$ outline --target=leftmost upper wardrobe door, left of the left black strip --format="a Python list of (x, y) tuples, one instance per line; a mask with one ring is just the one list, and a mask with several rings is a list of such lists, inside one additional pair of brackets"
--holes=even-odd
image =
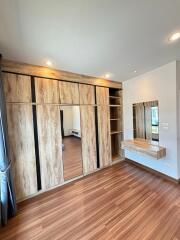
[(31, 102), (31, 77), (3, 73), (6, 102)]

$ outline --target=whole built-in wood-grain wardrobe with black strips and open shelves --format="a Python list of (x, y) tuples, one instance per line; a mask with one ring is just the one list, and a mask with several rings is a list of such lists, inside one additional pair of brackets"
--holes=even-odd
[[(115, 88), (110, 83), (103, 86), (82, 79), (67, 81), (45, 76), (33, 71), (24, 74), (11, 68), (3, 70), (10, 159), (18, 201), (123, 158), (121, 84)], [(76, 137), (81, 140), (82, 158), (82, 171), (69, 178), (63, 159), (66, 146), (61, 116), (67, 106), (79, 109), (81, 130)], [(71, 154), (67, 157), (71, 158)]]

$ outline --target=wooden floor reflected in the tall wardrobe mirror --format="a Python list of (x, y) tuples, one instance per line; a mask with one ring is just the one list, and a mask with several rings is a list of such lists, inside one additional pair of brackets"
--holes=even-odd
[(63, 144), (64, 179), (81, 176), (83, 172), (81, 139), (73, 136), (65, 137)]

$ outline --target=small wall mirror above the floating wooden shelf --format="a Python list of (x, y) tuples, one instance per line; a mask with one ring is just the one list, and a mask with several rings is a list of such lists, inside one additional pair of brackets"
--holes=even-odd
[(159, 141), (158, 101), (133, 104), (134, 138)]

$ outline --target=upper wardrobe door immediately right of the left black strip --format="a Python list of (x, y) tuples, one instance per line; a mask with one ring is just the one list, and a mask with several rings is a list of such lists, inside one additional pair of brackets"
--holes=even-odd
[(59, 103), (59, 81), (35, 78), (35, 94), (37, 103)]

